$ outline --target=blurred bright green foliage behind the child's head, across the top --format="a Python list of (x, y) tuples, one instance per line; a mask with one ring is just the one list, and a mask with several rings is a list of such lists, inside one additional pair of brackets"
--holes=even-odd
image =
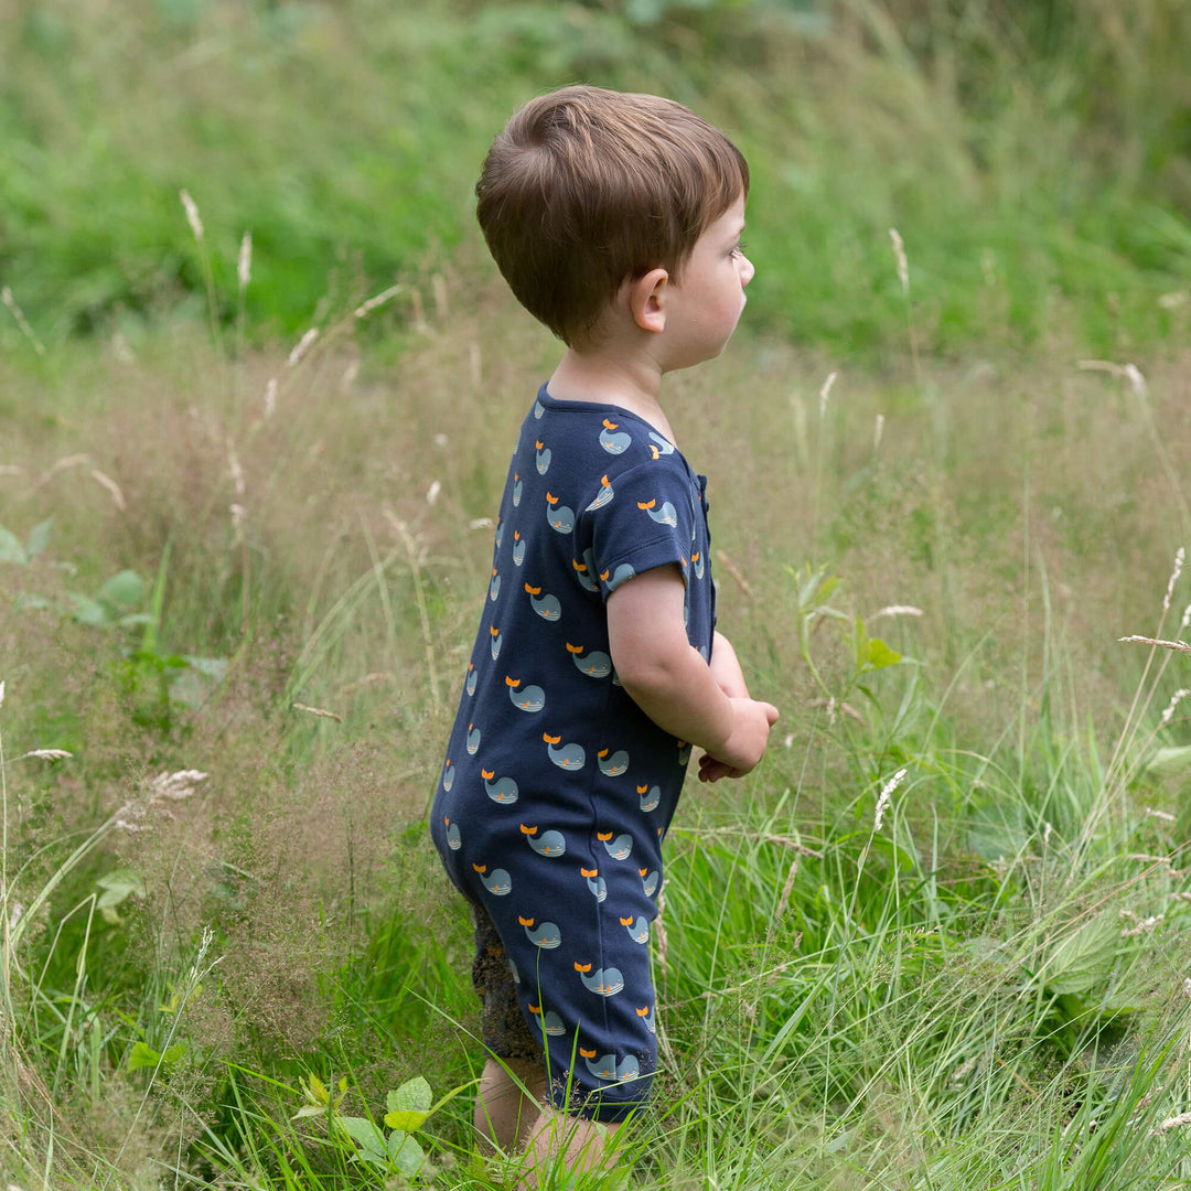
[[(219, 317), (291, 335), (476, 250), (472, 186), (530, 95), (673, 95), (754, 170), (754, 326), (1089, 349), (1185, 325), (1183, 0), (6, 0), (0, 282), (48, 343)], [(181, 305), (180, 305), (181, 304)], [(188, 304), (188, 305), (187, 305)], [(4, 333), (15, 329), (7, 317)], [(1124, 329), (1128, 328), (1128, 331)]]

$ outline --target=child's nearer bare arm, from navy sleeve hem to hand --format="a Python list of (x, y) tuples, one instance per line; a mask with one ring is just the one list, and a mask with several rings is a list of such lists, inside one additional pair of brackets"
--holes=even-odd
[(676, 566), (647, 570), (617, 587), (607, 599), (612, 665), (659, 728), (705, 749), (725, 771), (748, 773), (765, 753), (778, 710), (721, 687), (687, 641), (682, 603)]

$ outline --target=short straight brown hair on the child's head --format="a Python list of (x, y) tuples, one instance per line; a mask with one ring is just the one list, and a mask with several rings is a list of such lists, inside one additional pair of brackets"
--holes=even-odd
[(518, 301), (570, 344), (628, 278), (661, 267), (678, 280), (707, 225), (748, 194), (748, 164), (673, 100), (565, 87), (513, 114), (475, 193)]

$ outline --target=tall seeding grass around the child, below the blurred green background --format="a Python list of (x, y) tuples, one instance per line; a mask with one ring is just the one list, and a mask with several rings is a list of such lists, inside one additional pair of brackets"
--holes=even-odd
[[(504, 444), (554, 349), (475, 270), (411, 285), (437, 300), (366, 312), (395, 361), (353, 307), (292, 367), (292, 342), (229, 361), (179, 324), (18, 373), (15, 1185), (379, 1186), (336, 1122), (478, 1074), (423, 819)], [(1153, 434), (1185, 453), (1185, 368), (873, 379), (754, 337), (672, 378), (722, 623), (784, 718), (672, 833), (634, 1185), (1189, 1177), (1185, 704), (1164, 715), (1186, 676), (1117, 640), (1176, 634), (1189, 600)], [(512, 1177), (473, 1155), (466, 1093), (419, 1136), (438, 1185)]]

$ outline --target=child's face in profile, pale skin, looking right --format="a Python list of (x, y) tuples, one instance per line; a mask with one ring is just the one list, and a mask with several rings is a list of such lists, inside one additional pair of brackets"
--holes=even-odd
[(753, 262), (744, 255), (744, 197), (741, 195), (696, 241), (666, 294), (666, 337), (671, 368), (718, 356), (728, 345), (744, 310), (744, 287), (753, 280)]

